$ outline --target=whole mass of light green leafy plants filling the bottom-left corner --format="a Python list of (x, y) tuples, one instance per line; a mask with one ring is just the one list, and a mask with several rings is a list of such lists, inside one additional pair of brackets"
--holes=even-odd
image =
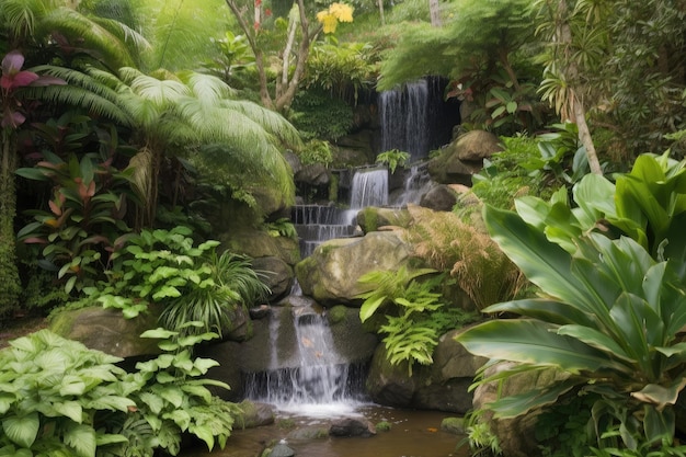
[[(190, 323), (192, 324), (192, 323)], [(157, 329), (162, 354), (127, 374), (122, 359), (41, 330), (0, 351), (0, 456), (152, 457), (180, 450), (187, 432), (224, 447), (239, 412), (198, 379), (216, 362), (188, 347), (216, 334)]]

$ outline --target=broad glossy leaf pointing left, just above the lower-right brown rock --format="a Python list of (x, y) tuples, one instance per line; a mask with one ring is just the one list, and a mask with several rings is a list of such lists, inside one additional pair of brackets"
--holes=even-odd
[(536, 320), (488, 321), (466, 330), (456, 340), (472, 354), (488, 358), (559, 367), (570, 373), (625, 369), (607, 354)]

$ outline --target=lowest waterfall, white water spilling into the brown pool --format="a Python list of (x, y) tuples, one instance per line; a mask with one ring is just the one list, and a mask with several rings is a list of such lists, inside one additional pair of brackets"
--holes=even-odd
[[(267, 402), (279, 410), (310, 416), (351, 414), (362, 404), (362, 368), (350, 365), (335, 351), (329, 321), (310, 301), (301, 302), (279, 312), (291, 313), (294, 329), (283, 329), (284, 322), (272, 315), (270, 319), (272, 369), (253, 374), (248, 382), (247, 397)], [(281, 332), (293, 330), (295, 350), (293, 358), (279, 361), (277, 342)], [(289, 366), (279, 367), (286, 363)]]

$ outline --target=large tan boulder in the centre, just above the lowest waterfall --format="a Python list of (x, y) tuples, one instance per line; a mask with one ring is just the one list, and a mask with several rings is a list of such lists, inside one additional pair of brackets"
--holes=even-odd
[(296, 276), (302, 294), (322, 306), (358, 306), (357, 296), (366, 292), (359, 278), (374, 271), (397, 271), (410, 253), (410, 247), (391, 231), (329, 240), (296, 265)]

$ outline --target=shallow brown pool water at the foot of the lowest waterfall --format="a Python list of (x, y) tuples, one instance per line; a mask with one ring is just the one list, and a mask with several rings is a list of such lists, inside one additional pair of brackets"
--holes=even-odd
[[(260, 457), (267, 446), (285, 439), (296, 457), (467, 457), (469, 449), (456, 450), (462, 435), (441, 431), (441, 421), (454, 416), (436, 411), (399, 410), (382, 407), (361, 407), (357, 413), (373, 424), (391, 423), (388, 432), (375, 436), (294, 438), (294, 430), (321, 427), (328, 430), (330, 419), (278, 413), (275, 425), (235, 430), (224, 450), (184, 452), (181, 457)], [(284, 426), (288, 423), (291, 426)], [(278, 425), (281, 424), (281, 426)]]

